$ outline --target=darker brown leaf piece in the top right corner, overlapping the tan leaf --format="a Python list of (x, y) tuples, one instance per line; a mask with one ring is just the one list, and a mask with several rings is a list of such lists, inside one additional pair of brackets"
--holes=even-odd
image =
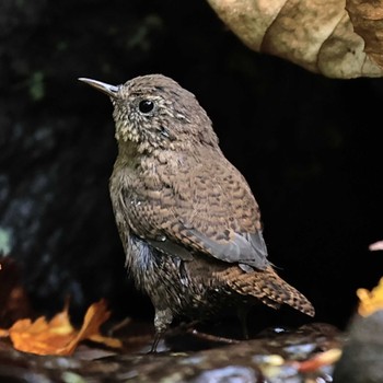
[(364, 51), (383, 67), (383, 1), (347, 0), (355, 32), (365, 43)]

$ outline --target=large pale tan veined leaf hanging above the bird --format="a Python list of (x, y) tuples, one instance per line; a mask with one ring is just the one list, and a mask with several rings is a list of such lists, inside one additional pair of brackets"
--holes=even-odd
[(346, 0), (208, 2), (253, 50), (281, 57), (329, 78), (383, 76), (383, 68), (364, 51), (363, 38), (353, 32)]

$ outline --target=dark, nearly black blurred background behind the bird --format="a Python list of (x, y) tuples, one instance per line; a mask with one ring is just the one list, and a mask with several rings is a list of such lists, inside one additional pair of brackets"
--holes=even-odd
[[(152, 72), (210, 115), (258, 200), (269, 256), (343, 327), (382, 276), (381, 79), (334, 80), (246, 48), (204, 0), (0, 3), (0, 247), (37, 312), (106, 298), (152, 316), (124, 269), (108, 197), (112, 105), (80, 83)], [(1, 288), (1, 287), (0, 287)], [(280, 320), (283, 322), (283, 318)]]

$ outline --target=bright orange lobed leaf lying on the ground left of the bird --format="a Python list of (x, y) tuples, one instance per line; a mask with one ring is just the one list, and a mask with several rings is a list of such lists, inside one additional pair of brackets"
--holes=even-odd
[[(72, 355), (81, 340), (101, 341), (109, 347), (121, 347), (118, 339), (103, 337), (101, 325), (108, 320), (106, 302), (93, 303), (86, 311), (82, 327), (76, 330), (69, 321), (68, 305), (49, 322), (44, 316), (35, 322), (21, 320), (8, 330), (13, 347), (19, 351), (37, 355)], [(0, 332), (1, 335), (1, 332)]]

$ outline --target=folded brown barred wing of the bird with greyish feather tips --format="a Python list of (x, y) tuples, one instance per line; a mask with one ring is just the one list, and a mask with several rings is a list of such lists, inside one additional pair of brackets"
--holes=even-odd
[(158, 172), (161, 179), (146, 181), (139, 188), (144, 195), (126, 189), (134, 232), (183, 259), (198, 251), (265, 269), (259, 209), (244, 177), (222, 155), (208, 162), (188, 161), (183, 160), (176, 174), (167, 167)]

